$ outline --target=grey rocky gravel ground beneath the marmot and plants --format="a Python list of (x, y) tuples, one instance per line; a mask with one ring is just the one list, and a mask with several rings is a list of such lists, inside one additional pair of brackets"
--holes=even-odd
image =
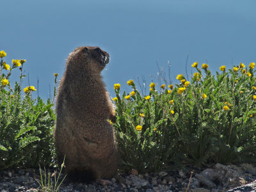
[[(50, 172), (54, 180), (54, 170)], [(44, 179), (43, 170), (42, 173)], [(55, 174), (58, 177), (58, 173)], [(61, 173), (60, 181), (63, 177)], [(35, 169), (3, 170), (0, 172), (0, 192), (42, 191), (36, 181), (40, 179), (40, 171)], [(47, 183), (48, 180), (46, 186)], [(110, 180), (97, 180), (91, 184), (68, 182), (65, 179), (59, 191), (256, 191), (256, 166), (215, 164), (206, 169), (188, 166), (186, 170), (144, 174), (132, 170), (130, 174), (120, 173)]]

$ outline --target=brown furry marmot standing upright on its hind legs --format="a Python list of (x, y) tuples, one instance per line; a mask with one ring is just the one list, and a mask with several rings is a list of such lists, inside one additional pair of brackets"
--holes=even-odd
[[(116, 121), (100, 72), (109, 62), (99, 47), (77, 47), (68, 56), (56, 97), (54, 142), (58, 163), (71, 179), (109, 179), (115, 175), (118, 152)], [(84, 179), (83, 179), (84, 180)]]

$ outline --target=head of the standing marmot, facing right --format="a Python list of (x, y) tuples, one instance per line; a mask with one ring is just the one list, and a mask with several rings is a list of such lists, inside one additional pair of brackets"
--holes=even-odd
[[(69, 62), (71, 61), (71, 63)], [(109, 62), (109, 54), (99, 47), (77, 47), (68, 56), (68, 62), (72, 68), (82, 70), (83, 68), (90, 68), (94, 72), (101, 72), (106, 64)], [(70, 65), (68, 64), (68, 65)]]

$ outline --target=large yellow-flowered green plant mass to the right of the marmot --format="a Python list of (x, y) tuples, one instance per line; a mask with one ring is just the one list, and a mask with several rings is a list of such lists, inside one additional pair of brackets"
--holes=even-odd
[[(170, 84), (150, 84), (141, 96), (132, 80), (130, 94), (115, 84), (116, 141), (124, 169), (159, 170), (206, 163), (255, 162), (255, 63), (216, 72), (193, 63), (197, 72)], [(129, 96), (130, 95), (130, 96)]]

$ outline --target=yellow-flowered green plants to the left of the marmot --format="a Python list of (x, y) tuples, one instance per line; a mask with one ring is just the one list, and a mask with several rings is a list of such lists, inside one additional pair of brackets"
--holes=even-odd
[[(26, 60), (12, 60), (12, 67), (3, 60), (0, 51), (0, 170), (10, 167), (35, 167), (54, 164), (52, 131), (55, 115), (52, 102), (40, 97), (33, 99), (34, 86), (23, 89), (22, 68)], [(19, 83), (12, 88), (9, 80), (12, 70), (19, 67)]]

